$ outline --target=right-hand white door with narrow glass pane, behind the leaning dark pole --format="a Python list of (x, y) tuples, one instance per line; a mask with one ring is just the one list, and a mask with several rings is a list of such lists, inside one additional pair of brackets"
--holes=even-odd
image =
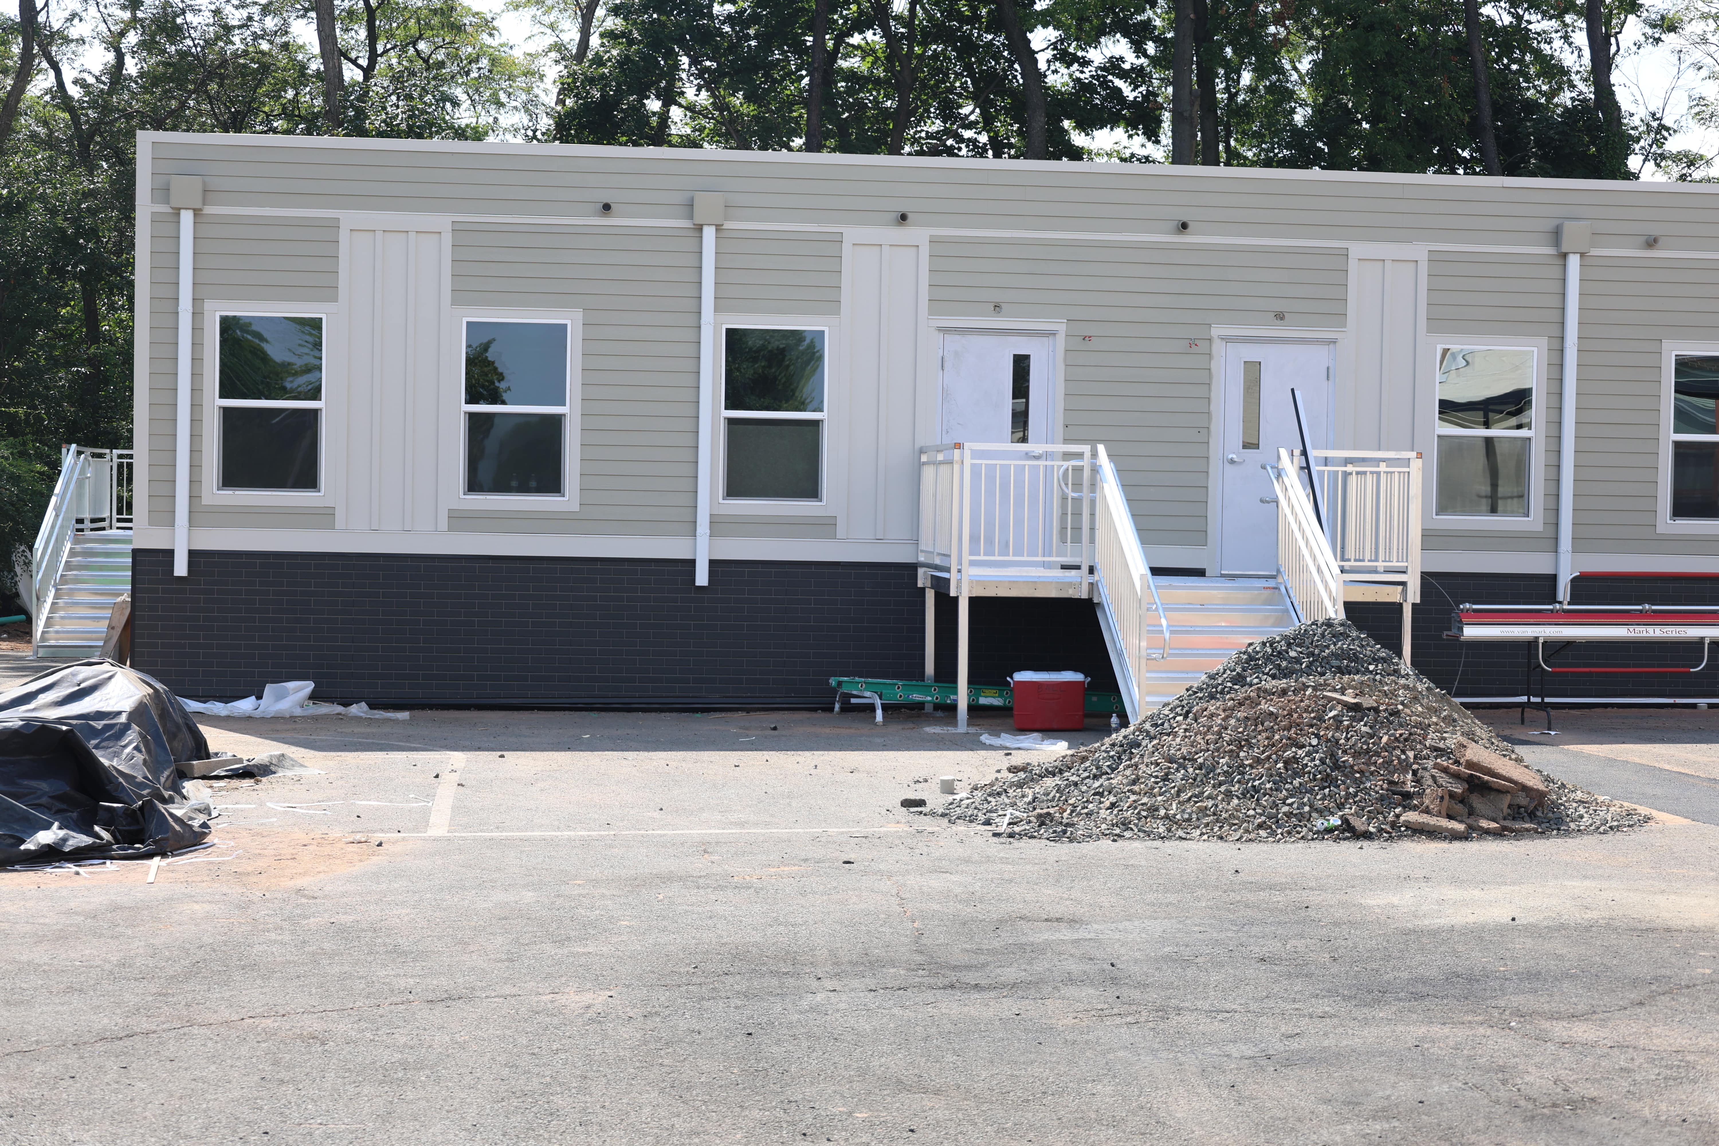
[(1291, 390), (1301, 392), (1308, 447), (1331, 448), (1329, 342), (1229, 342), (1224, 349), (1219, 555), (1224, 576), (1277, 572), (1277, 505), (1265, 464), (1301, 448)]

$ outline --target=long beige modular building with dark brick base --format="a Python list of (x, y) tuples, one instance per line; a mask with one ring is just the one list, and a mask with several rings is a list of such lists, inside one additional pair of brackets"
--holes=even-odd
[[(1716, 196), (144, 132), (132, 661), (189, 696), (825, 703), (925, 677), (927, 625), (956, 675), (928, 447), (1102, 445), (1186, 591), (1281, 574), (1288, 447), (1420, 454), (1415, 663), (1520, 694), (1525, 646), (1444, 639), (1458, 605), (1719, 603)], [(1348, 615), (1396, 649), (1392, 610)], [(976, 596), (971, 680), (1116, 687), (1100, 622)]]

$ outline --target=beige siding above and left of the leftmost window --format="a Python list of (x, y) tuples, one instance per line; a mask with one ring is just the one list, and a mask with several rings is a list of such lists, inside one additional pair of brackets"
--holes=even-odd
[[(179, 347), (179, 216), (150, 220), (150, 450), (148, 517), (174, 524), (174, 404)], [(340, 232), (330, 218), (277, 215), (198, 215), (193, 239), (191, 316), (191, 524), (306, 529), (320, 515), (284, 507), (256, 507), (244, 521), (230, 509), (205, 509), (203, 485), (203, 302), (335, 302), (340, 278)], [(328, 515), (328, 524), (333, 524)]]

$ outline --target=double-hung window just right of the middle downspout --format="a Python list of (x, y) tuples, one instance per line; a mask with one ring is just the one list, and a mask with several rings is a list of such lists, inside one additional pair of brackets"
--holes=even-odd
[(722, 332), (722, 497), (822, 502), (829, 330)]

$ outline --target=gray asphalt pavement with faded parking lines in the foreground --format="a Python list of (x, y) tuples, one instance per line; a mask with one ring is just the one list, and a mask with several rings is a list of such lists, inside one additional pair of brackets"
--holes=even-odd
[(206, 720), (320, 771), (0, 875), (0, 1143), (1719, 1141), (1719, 828), (1006, 840), (925, 723)]

